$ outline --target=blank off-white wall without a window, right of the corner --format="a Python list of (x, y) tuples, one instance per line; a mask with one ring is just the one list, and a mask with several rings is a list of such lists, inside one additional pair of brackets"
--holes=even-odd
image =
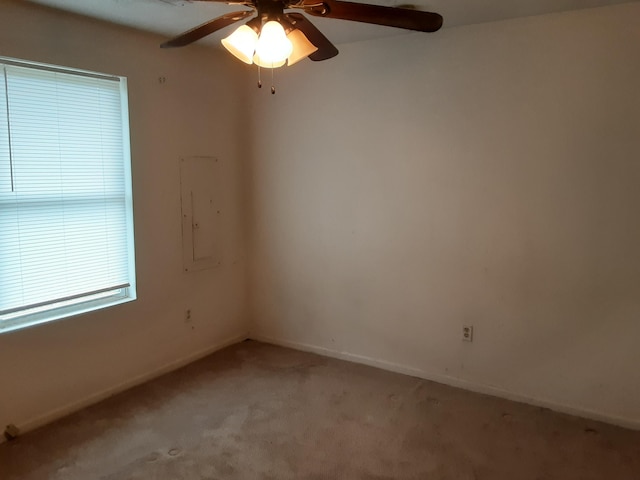
[(635, 3), (279, 72), (252, 99), (252, 337), (640, 428), (638, 25)]

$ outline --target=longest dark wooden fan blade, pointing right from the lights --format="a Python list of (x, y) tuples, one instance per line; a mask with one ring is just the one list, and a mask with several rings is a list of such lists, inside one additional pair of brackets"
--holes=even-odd
[(308, 6), (302, 5), (304, 11), (316, 17), (374, 23), (420, 32), (435, 32), (442, 27), (442, 16), (432, 12), (337, 0), (322, 0), (321, 5), (313, 5), (313, 0), (307, 2)]

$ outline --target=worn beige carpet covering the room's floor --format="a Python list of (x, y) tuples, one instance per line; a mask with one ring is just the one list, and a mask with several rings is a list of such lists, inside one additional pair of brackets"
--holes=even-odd
[(2, 480), (636, 480), (640, 432), (244, 342), (0, 445)]

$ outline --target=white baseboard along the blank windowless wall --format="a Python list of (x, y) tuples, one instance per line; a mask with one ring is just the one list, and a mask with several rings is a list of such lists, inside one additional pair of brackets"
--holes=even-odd
[(442, 383), (444, 385), (449, 385), (451, 387), (462, 388), (464, 390), (469, 390), (476, 393), (482, 393), (485, 395), (492, 395), (494, 397), (500, 397), (507, 400), (512, 400), (514, 402), (526, 403), (528, 405), (534, 405), (536, 407), (548, 408), (556, 412), (566, 413), (569, 415), (587, 418), (587, 419), (595, 420), (598, 422), (609, 423), (612, 425), (617, 425), (617, 426), (629, 428), (632, 430), (640, 430), (640, 420), (637, 420), (637, 419), (618, 417), (615, 415), (609, 415), (602, 412), (596, 412), (587, 408), (576, 407), (573, 405), (566, 405), (563, 403), (554, 402), (544, 398), (532, 397), (529, 395), (522, 395), (516, 392), (511, 392), (509, 390), (504, 390), (502, 388), (495, 387), (492, 385), (469, 382), (468, 380), (462, 380), (460, 378), (451, 377), (449, 375), (442, 375), (440, 373), (433, 372), (433, 371), (426, 371), (419, 368), (408, 367), (405, 365), (387, 362), (384, 360), (378, 360), (378, 359), (367, 357), (364, 355), (358, 355), (358, 354), (349, 353), (349, 352), (339, 352), (336, 350), (331, 350), (329, 348), (320, 347), (317, 345), (276, 339), (276, 338), (266, 337), (263, 335), (250, 334), (249, 338), (251, 340), (257, 340), (259, 342), (271, 343), (273, 345), (280, 345), (282, 347), (293, 348), (295, 350), (302, 350), (305, 352), (317, 353), (319, 355), (324, 355), (326, 357), (338, 358), (341, 360), (347, 360), (354, 363), (361, 363), (364, 365), (377, 367), (377, 368), (388, 370), (391, 372), (411, 375), (414, 377), (423, 378), (425, 380), (430, 380), (433, 382)]

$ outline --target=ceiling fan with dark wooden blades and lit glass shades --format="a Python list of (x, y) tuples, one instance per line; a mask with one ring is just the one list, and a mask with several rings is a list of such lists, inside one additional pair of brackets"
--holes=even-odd
[[(322, 61), (335, 57), (338, 49), (313, 23), (298, 12), (314, 17), (337, 18), (390, 27), (435, 32), (442, 26), (442, 16), (411, 8), (385, 7), (339, 0), (199, 0), (242, 5), (250, 10), (227, 13), (192, 28), (160, 45), (182, 47), (249, 17), (223, 46), (245, 63), (277, 68), (308, 57)], [(273, 89), (272, 89), (273, 92)]]

